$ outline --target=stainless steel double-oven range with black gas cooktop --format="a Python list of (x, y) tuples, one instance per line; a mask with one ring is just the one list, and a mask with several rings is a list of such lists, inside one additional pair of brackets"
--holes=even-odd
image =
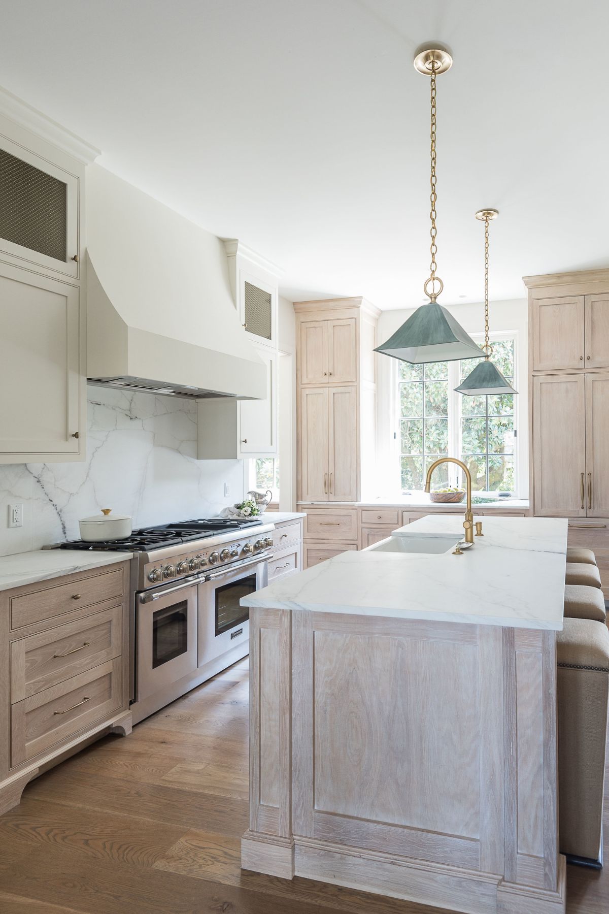
[(137, 723), (249, 651), (241, 597), (265, 587), (273, 524), (198, 518), (66, 549), (133, 552), (131, 711)]

